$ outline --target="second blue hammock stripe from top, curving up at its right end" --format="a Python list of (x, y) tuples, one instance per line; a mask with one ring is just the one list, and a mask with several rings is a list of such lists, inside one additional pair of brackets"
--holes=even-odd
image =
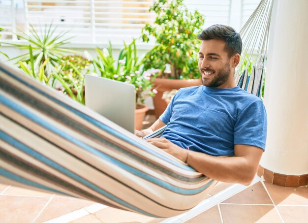
[[(23, 116), (27, 117), (28, 119), (30, 119), (31, 121), (37, 123), (38, 125), (45, 127), (46, 129), (54, 132), (55, 134), (58, 134), (59, 136), (63, 137), (64, 139), (74, 143), (75, 145), (78, 145), (79, 147), (87, 150), (88, 152), (95, 154), (95, 156), (100, 157), (102, 159), (105, 159), (109, 162), (112, 162), (113, 164), (121, 167), (122, 169), (125, 169), (126, 171), (137, 175), (143, 179), (146, 179), (156, 185), (159, 185), (167, 190), (170, 191), (174, 191), (177, 193), (181, 193), (181, 194), (185, 194), (185, 195), (191, 195), (191, 194), (196, 194), (199, 193), (201, 191), (204, 191), (207, 187), (203, 186), (199, 189), (195, 189), (195, 190), (186, 190), (186, 189), (182, 189), (182, 188), (178, 188), (175, 187), (165, 181), (159, 180), (151, 175), (148, 175), (138, 169), (135, 169), (129, 165), (127, 165), (126, 163), (119, 161), (113, 157), (108, 156), (107, 154), (102, 153), (101, 151), (98, 151), (94, 148), (92, 148), (91, 146), (71, 137), (70, 135), (66, 134), (65, 132), (61, 131), (60, 129), (50, 125), (49, 123), (45, 122), (44, 120), (40, 119), (39, 117), (33, 115), (30, 111), (27, 111), (26, 109), (24, 109), (23, 107), (19, 106), (18, 104), (15, 104), (14, 102), (10, 101), (8, 98), (5, 98), (4, 96), (0, 95), (0, 103), (4, 104), (5, 106), (15, 110), (16, 112), (22, 114)], [(16, 145), (14, 145), (16, 147)], [(28, 153), (28, 152), (26, 152)], [(41, 156), (41, 155), (40, 155)], [(40, 159), (40, 157), (38, 157), (38, 159)], [(45, 161), (44, 161), (45, 162)]]

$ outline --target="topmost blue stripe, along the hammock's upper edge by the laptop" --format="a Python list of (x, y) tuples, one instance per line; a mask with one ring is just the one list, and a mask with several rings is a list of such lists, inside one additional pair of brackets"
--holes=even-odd
[(9, 76), (15, 78), (15, 79), (18, 80), (19, 82), (25, 84), (25, 85), (28, 86), (29, 88), (35, 90), (35, 91), (38, 92), (39, 94), (41, 94), (41, 95), (43, 95), (43, 96), (46, 96), (46, 97), (49, 98), (50, 100), (52, 100), (52, 101), (58, 103), (60, 106), (66, 108), (67, 110), (73, 112), (74, 114), (76, 114), (76, 115), (82, 117), (82, 119), (87, 120), (88, 122), (90, 122), (90, 123), (93, 124), (94, 126), (99, 127), (100, 129), (103, 129), (104, 131), (107, 131), (108, 133), (110, 133), (110, 134), (112, 134), (112, 135), (114, 135), (114, 136), (116, 136), (116, 137), (122, 139), (123, 141), (126, 141), (126, 142), (128, 142), (128, 143), (130, 143), (130, 144), (132, 144), (132, 145), (134, 145), (134, 146), (136, 146), (136, 147), (138, 147), (139, 149), (142, 149), (142, 150), (144, 150), (144, 151), (146, 151), (146, 152), (148, 152), (148, 153), (150, 153), (150, 154), (152, 154), (152, 155), (154, 155), (154, 156), (156, 156), (156, 157), (158, 157), (158, 158), (160, 158), (160, 159), (163, 159), (163, 160), (165, 160), (165, 161), (167, 161), (167, 162), (169, 162), (169, 163), (172, 163), (173, 165), (175, 165), (175, 166), (177, 166), (177, 167), (180, 167), (180, 168), (182, 168), (182, 169), (190, 170), (190, 171), (194, 171), (194, 172), (195, 172), (195, 169), (193, 169), (192, 167), (187, 166), (187, 165), (184, 165), (184, 164), (181, 164), (181, 163), (178, 163), (178, 162), (176, 162), (176, 161), (174, 161), (174, 160), (172, 160), (172, 159), (168, 159), (167, 157), (164, 157), (164, 156), (162, 156), (162, 155), (160, 155), (160, 154), (158, 154), (158, 153), (155, 153), (153, 150), (147, 148), (146, 146), (143, 146), (143, 145), (139, 144), (138, 142), (136, 142), (136, 141), (133, 140), (133, 139), (130, 139), (130, 138), (124, 136), (123, 134), (119, 133), (118, 131), (112, 129), (111, 127), (108, 127), (108, 126), (102, 124), (101, 122), (98, 122), (97, 120), (93, 119), (92, 117), (90, 117), (90, 116), (88, 116), (88, 115), (86, 115), (86, 114), (84, 114), (84, 113), (82, 113), (82, 112), (80, 112), (80, 111), (78, 111), (78, 110), (76, 110), (76, 109), (74, 109), (74, 108), (72, 108), (72, 107), (66, 105), (65, 103), (59, 101), (58, 99), (56, 99), (56, 98), (54, 98), (54, 97), (52, 97), (52, 96), (50, 96), (50, 95), (44, 93), (43, 91), (37, 89), (36, 87), (32, 86), (32, 85), (29, 84), (28, 82), (22, 80), (21, 78), (17, 77), (16, 75), (12, 74), (11, 72), (9, 72), (8, 70), (4, 69), (4, 68), (1, 67), (1, 66), (0, 66), (0, 70), (2, 70), (3, 72), (7, 73)]

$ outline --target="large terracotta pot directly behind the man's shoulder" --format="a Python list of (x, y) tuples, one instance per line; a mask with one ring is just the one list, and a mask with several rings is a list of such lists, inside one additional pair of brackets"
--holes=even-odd
[(172, 79), (163, 79), (155, 78), (154, 88), (157, 91), (157, 94), (153, 97), (154, 103), (154, 112), (156, 119), (166, 110), (167, 102), (161, 99), (165, 91), (171, 91), (172, 89), (180, 89), (191, 86), (201, 85), (201, 79), (190, 79), (190, 80), (172, 80)]

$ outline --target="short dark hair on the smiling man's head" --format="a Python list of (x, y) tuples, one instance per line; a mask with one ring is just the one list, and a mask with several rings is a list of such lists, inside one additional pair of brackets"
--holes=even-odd
[(225, 25), (213, 25), (203, 30), (199, 35), (200, 40), (222, 39), (225, 41), (225, 51), (229, 58), (234, 54), (242, 53), (242, 38), (240, 33), (236, 32), (232, 27)]

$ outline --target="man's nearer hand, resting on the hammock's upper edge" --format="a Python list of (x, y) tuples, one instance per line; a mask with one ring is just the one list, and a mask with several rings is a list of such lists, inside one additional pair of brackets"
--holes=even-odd
[(147, 139), (147, 142), (151, 143), (152, 145), (166, 151), (167, 153), (171, 154), (172, 156), (182, 160), (183, 162), (187, 161), (188, 158), (188, 150), (185, 150), (176, 144), (170, 142), (166, 138), (153, 138)]

